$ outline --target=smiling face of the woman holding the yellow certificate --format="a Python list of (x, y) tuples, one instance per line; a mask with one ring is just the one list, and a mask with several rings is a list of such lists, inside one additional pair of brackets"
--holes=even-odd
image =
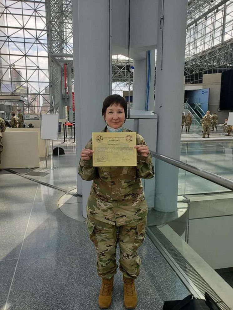
[(108, 126), (117, 129), (124, 124), (125, 111), (119, 104), (113, 103), (106, 109), (104, 119)]

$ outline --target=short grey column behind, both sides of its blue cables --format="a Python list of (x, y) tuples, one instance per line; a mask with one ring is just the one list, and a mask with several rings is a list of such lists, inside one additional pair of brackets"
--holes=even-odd
[[(148, 110), (154, 111), (154, 69), (155, 69), (155, 51), (151, 51), (151, 73), (150, 73), (150, 91)], [(133, 73), (133, 109), (145, 110), (146, 90), (148, 79), (148, 61), (147, 59), (134, 60), (135, 71)]]

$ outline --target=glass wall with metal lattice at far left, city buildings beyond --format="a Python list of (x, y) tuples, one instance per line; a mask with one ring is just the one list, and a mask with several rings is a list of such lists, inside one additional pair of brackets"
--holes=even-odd
[(24, 113), (38, 117), (49, 103), (45, 2), (0, 0), (0, 93), (25, 98)]

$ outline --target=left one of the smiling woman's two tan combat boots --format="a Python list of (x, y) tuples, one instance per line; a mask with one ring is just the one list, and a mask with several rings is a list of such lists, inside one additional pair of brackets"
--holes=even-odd
[(101, 309), (107, 309), (111, 305), (111, 294), (113, 288), (113, 277), (102, 278), (102, 285), (99, 293), (98, 303)]

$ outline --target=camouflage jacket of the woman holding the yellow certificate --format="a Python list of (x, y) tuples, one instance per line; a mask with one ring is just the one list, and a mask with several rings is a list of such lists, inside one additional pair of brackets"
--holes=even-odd
[[(105, 132), (105, 129), (102, 131)], [(123, 132), (131, 132), (123, 129)], [(146, 145), (137, 134), (137, 145)], [(92, 149), (92, 140), (85, 148)], [(78, 173), (83, 180), (93, 180), (87, 201), (88, 217), (121, 226), (132, 222), (135, 225), (147, 215), (147, 203), (140, 178), (154, 177), (151, 154), (137, 155), (137, 167), (93, 167), (92, 158), (80, 159)]]

